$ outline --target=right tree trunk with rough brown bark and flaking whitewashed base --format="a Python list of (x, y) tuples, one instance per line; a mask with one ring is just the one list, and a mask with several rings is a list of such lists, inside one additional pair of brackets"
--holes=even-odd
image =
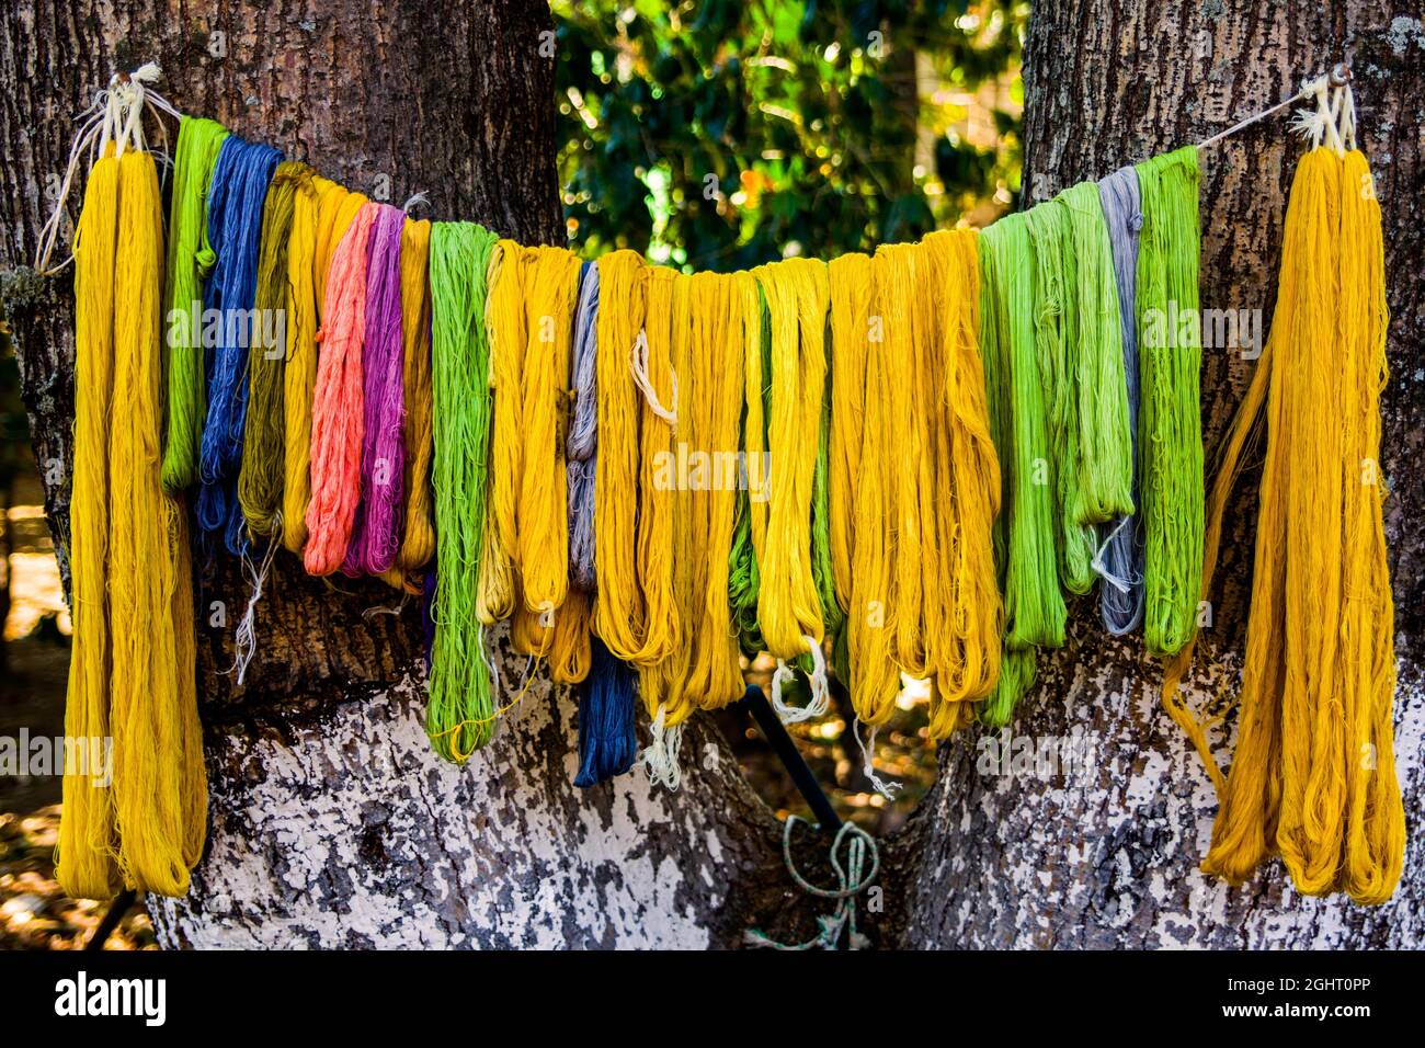
[[(978, 771), (972, 741), (943, 747), (940, 781), (911, 827), (923, 853), (908, 944), (1355, 948), (1425, 941), (1418, 821), (1425, 790), (1419, 4), (1036, 4), (1025, 50), (1025, 185), (1035, 191), (1032, 200), (1043, 200), (1082, 178), (1201, 141), (1291, 96), (1301, 80), (1341, 57), (1355, 74), (1361, 145), (1377, 175), (1392, 314), (1382, 459), (1391, 488), (1395, 749), (1409, 833), (1405, 881), (1394, 903), (1362, 908), (1341, 897), (1297, 895), (1280, 863), (1240, 888), (1198, 873), (1216, 813), (1207, 776), (1161, 711), (1159, 667), (1144, 659), (1139, 639), (1107, 636), (1096, 605), (1080, 602), (1066, 647), (1040, 656), (1040, 683), (1019, 707), (1015, 730), (1036, 740), (1082, 733), (1093, 743), (1093, 767), (1016, 780)], [(1301, 153), (1281, 114), (1203, 154), (1203, 308), (1261, 309), (1263, 335), (1275, 295), (1287, 190)], [(1206, 349), (1203, 358), (1210, 461), (1254, 365), (1227, 349)], [(1235, 687), (1254, 529), (1255, 476), (1248, 475), (1224, 528), (1214, 626), (1191, 674), (1200, 687)]]

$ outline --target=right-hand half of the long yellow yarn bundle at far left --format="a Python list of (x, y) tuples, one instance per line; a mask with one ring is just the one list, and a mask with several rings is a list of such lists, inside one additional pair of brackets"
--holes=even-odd
[(128, 151), (118, 165), (108, 442), (114, 821), (124, 883), (181, 895), (202, 856), (208, 797), (187, 512), (160, 478), (164, 217), (152, 155)]

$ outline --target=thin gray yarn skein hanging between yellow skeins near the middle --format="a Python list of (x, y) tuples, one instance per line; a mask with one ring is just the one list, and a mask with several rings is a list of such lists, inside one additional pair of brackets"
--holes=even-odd
[(574, 404), (564, 442), (569, 505), (569, 575), (586, 593), (597, 586), (594, 573), (594, 472), (598, 451), (598, 412), (594, 401), (594, 345), (598, 328), (598, 267), (584, 262), (574, 314)]

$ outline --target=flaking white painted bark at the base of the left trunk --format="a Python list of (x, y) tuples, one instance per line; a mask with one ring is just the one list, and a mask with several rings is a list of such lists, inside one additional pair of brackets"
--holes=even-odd
[(150, 898), (162, 944), (718, 941), (715, 915), (757, 867), (745, 834), (728, 834), (727, 817), (755, 803), (735, 764), (704, 769), (700, 743), (677, 794), (650, 790), (641, 771), (577, 790), (574, 706), (542, 673), (496, 740), (459, 769), (430, 751), (423, 706), (423, 682), (406, 676), (288, 739), (222, 733), (209, 751), (224, 774), (208, 856), (187, 898)]

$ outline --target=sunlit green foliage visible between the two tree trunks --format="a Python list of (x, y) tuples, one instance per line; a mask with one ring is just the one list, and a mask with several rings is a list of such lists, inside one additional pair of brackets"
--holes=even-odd
[[(915, 240), (1019, 188), (1016, 0), (554, 0), (570, 242), (698, 269)], [(1006, 111), (1012, 110), (1012, 111)]]

